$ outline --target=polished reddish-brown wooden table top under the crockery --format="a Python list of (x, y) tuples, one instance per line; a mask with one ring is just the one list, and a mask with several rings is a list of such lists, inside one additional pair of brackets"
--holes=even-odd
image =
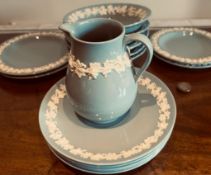
[[(13, 35), (0, 35), (0, 42)], [(139, 62), (136, 62), (139, 64)], [(149, 163), (130, 175), (211, 175), (211, 68), (190, 70), (154, 57), (148, 71), (172, 91), (177, 119), (170, 140)], [(69, 168), (48, 149), (38, 124), (40, 103), (65, 71), (32, 80), (0, 76), (0, 175), (86, 174)], [(178, 82), (192, 85), (188, 94)]]

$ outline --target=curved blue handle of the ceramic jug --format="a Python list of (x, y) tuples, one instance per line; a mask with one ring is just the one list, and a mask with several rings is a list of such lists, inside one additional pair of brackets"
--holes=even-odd
[[(146, 37), (143, 34), (139, 34), (139, 33), (132, 33), (132, 34), (127, 34), (125, 36), (125, 43), (127, 43), (128, 41), (138, 41), (138, 42), (142, 42), (147, 50), (147, 57), (143, 63), (143, 65), (141, 66), (141, 68), (135, 68), (135, 66), (133, 66), (133, 70), (134, 70), (134, 79), (135, 81), (138, 80), (138, 78), (141, 76), (141, 74), (149, 67), (151, 61), (152, 61), (152, 56), (153, 56), (153, 47), (151, 44), (151, 41), (149, 40), (148, 37)], [(139, 59), (139, 58), (136, 58)], [(135, 59), (132, 59), (132, 61)]]

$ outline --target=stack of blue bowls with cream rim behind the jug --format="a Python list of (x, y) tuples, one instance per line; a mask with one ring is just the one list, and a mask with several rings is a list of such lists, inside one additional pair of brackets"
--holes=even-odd
[[(130, 3), (109, 3), (83, 7), (67, 13), (63, 23), (75, 23), (90, 18), (112, 18), (120, 21), (125, 26), (126, 34), (140, 33), (149, 35), (150, 22), (148, 20), (151, 10), (147, 7)], [(66, 41), (71, 49), (70, 38)], [(129, 42), (128, 52), (132, 59), (140, 57), (145, 52), (145, 47), (140, 42)]]

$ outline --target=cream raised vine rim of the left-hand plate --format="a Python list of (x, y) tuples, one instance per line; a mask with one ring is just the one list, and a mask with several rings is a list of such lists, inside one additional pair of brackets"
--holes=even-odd
[[(58, 32), (36, 32), (36, 33), (28, 33), (24, 35), (19, 35), (12, 39), (9, 39), (8, 41), (5, 41), (4, 43), (0, 45), (0, 57), (2, 56), (4, 49), (9, 47), (11, 44), (19, 40), (27, 39), (29, 37), (36, 37), (36, 36), (53, 36), (53, 37), (64, 39), (64, 35)], [(55, 69), (57, 67), (60, 67), (64, 65), (65, 63), (67, 63), (67, 61), (68, 61), (68, 53), (64, 55), (63, 57), (58, 58), (57, 61), (43, 65), (43, 66), (33, 67), (33, 68), (31, 67), (30, 68), (15, 68), (15, 67), (11, 67), (5, 64), (0, 58), (0, 72), (5, 73), (5, 74), (12, 74), (12, 75), (29, 75), (29, 74), (33, 75), (33, 74), (46, 72), (46, 71)]]

